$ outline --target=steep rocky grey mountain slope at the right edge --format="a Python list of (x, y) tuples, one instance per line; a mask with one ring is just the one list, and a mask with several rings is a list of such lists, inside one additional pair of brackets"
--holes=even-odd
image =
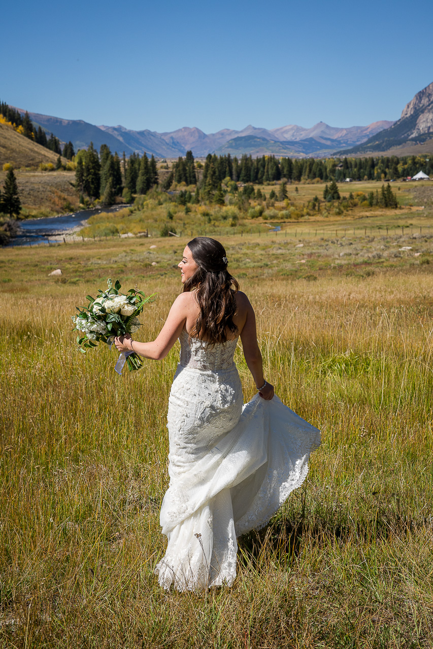
[[(416, 93), (404, 106), (400, 119), (387, 129), (372, 134), (368, 140), (345, 151), (374, 153), (410, 144), (421, 144), (433, 138), (433, 82)], [(433, 147), (432, 147), (433, 151)]]

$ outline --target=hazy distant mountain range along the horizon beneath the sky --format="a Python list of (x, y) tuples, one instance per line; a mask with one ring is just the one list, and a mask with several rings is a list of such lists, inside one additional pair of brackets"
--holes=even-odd
[[(17, 108), (21, 113), (25, 110)], [(330, 154), (342, 147), (353, 147), (372, 135), (387, 129), (391, 121), (376, 121), (366, 127), (335, 128), (319, 122), (311, 129), (287, 125), (276, 129), (261, 129), (248, 125), (243, 130), (222, 129), (206, 134), (196, 127), (183, 127), (170, 132), (157, 133), (148, 129), (131, 130), (118, 125), (96, 126), (82, 119), (62, 119), (29, 112), (31, 120), (59, 140), (72, 141), (75, 151), (88, 147), (90, 141), (99, 149), (107, 144), (111, 151), (130, 155), (145, 151), (159, 158), (177, 158), (192, 151), (194, 156), (208, 153), (243, 153), (256, 155), (305, 156)]]

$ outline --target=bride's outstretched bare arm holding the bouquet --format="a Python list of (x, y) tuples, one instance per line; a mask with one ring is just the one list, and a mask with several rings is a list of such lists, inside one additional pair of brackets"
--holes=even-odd
[(155, 340), (150, 343), (140, 343), (133, 340), (131, 336), (120, 336), (114, 338), (114, 345), (120, 352), (132, 350), (140, 354), (140, 356), (144, 356), (144, 358), (151, 358), (155, 361), (165, 358), (185, 325), (189, 302), (190, 293), (181, 293), (181, 295), (177, 296), (163, 328)]

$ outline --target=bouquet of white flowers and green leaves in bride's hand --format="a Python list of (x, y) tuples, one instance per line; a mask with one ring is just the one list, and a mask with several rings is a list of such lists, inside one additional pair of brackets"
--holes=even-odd
[[(72, 331), (79, 331), (84, 336), (77, 336), (79, 350), (85, 354), (87, 349), (98, 347), (97, 343), (103, 342), (112, 345), (114, 337), (133, 334), (140, 327), (138, 315), (143, 310), (144, 304), (153, 302), (155, 293), (146, 297), (142, 291), (135, 288), (129, 289), (127, 294), (120, 293), (122, 284), (118, 280), (112, 285), (111, 279), (107, 280), (106, 291), (98, 290), (98, 295), (89, 300), (87, 308), (76, 307), (78, 315), (72, 316), (75, 327)], [(129, 371), (140, 369), (142, 360), (135, 352), (127, 351), (120, 354), (114, 369), (122, 373), (125, 361)]]

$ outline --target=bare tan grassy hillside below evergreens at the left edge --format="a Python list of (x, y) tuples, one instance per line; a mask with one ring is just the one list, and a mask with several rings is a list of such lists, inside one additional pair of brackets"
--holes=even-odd
[(42, 162), (47, 164), (57, 161), (57, 154), (40, 144), (20, 135), (11, 127), (0, 124), (0, 169), (5, 162), (14, 167), (38, 167)]

